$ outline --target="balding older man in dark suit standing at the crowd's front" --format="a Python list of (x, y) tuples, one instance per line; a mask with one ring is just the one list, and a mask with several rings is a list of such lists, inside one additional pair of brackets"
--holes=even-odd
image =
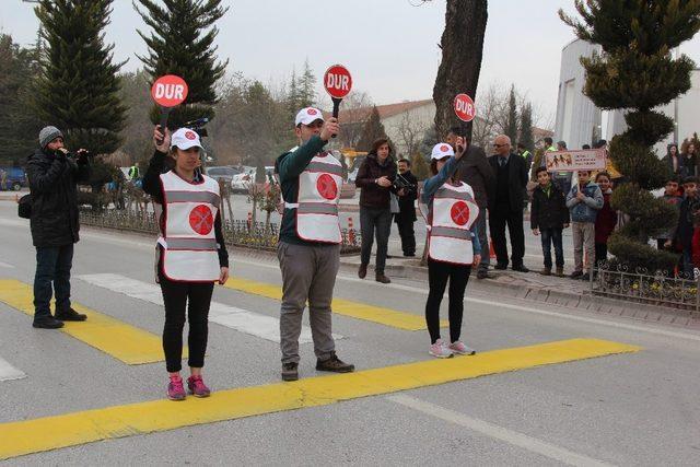
[(495, 189), (489, 197), (489, 229), (498, 264), (495, 269), (508, 268), (508, 245), (505, 226), (508, 224), (512, 247), (512, 269), (529, 272), (523, 265), (525, 256), (525, 233), (523, 231), (523, 192), (527, 185), (527, 165), (525, 160), (511, 152), (511, 139), (499, 135), (493, 140), (495, 154), (489, 157), (489, 164), (495, 174)]

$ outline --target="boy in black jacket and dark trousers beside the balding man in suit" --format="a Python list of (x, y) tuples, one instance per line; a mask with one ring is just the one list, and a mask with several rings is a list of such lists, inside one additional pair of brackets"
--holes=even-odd
[(557, 276), (564, 275), (562, 230), (569, 226), (569, 210), (563, 191), (551, 183), (547, 168), (535, 171), (537, 187), (533, 191), (529, 223), (534, 235), (541, 235), (545, 269), (542, 276), (551, 276), (551, 244), (555, 244)]

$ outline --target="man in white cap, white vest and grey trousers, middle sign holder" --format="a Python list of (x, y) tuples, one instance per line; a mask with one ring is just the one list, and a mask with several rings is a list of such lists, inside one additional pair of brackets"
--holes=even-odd
[(340, 266), (338, 200), (342, 166), (324, 147), (340, 130), (338, 120), (324, 121), (320, 110), (296, 114), (299, 147), (276, 162), (284, 199), (277, 256), (282, 271), (280, 347), (282, 380), (299, 378), (299, 336), (308, 302), (316, 370), (354, 371), (336, 355), (330, 303)]

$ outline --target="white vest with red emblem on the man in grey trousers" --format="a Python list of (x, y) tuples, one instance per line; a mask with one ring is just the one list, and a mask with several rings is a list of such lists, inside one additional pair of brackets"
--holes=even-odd
[(296, 210), (296, 235), (307, 242), (339, 244), (338, 201), (342, 188), (342, 165), (329, 152), (311, 160), (299, 176), (296, 202), (284, 207)]

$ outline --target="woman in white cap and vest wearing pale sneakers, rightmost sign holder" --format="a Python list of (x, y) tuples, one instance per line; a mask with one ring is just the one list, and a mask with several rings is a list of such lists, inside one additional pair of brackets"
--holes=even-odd
[[(457, 138), (457, 153), (447, 143), (432, 150), (430, 168), (421, 202), (428, 206), (428, 281), (425, 323), (430, 332), (430, 354), (447, 358), (476, 353), (459, 340), (464, 314), (464, 292), (471, 273), (481, 260), (481, 245), (475, 221), (479, 208), (471, 187), (459, 182), (458, 161), (464, 154), (464, 139)], [(440, 338), (440, 304), (450, 280), (450, 343)]]

